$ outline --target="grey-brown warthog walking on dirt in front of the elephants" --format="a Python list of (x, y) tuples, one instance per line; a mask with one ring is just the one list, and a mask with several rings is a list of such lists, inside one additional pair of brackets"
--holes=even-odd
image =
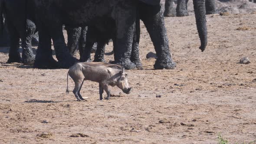
[(127, 73), (120, 65), (112, 65), (105, 62), (78, 62), (73, 65), (67, 75), (66, 95), (69, 94), (68, 78), (69, 76), (75, 82), (73, 93), (77, 101), (82, 101), (80, 90), (84, 80), (90, 80), (99, 83), (99, 99), (102, 100), (103, 90), (107, 93), (105, 99), (109, 99), (110, 90), (108, 85), (117, 86), (126, 94), (131, 92), (131, 87), (128, 85)]

